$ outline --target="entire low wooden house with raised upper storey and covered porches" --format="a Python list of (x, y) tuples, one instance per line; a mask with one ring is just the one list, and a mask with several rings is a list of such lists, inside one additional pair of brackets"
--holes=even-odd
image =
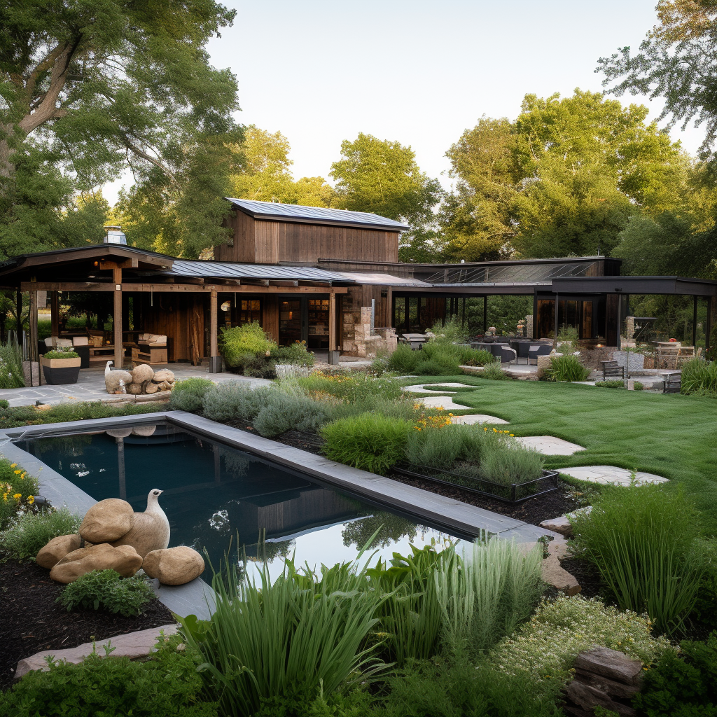
[[(54, 336), (60, 333), (58, 292), (96, 294), (114, 317), (112, 337), (93, 351), (98, 361), (120, 366), (136, 336), (153, 333), (166, 336), (168, 361), (209, 359), (212, 370), (221, 365), (221, 328), (250, 321), (282, 345), (306, 341), (312, 350), (361, 353), (367, 333), (422, 331), (465, 312), (468, 298), (482, 297), (485, 307), (490, 295), (523, 295), (533, 298), (528, 326), (534, 338), (568, 325), (580, 338), (616, 346), (630, 294), (691, 295), (695, 316), (698, 301), (706, 300), (708, 324), (716, 308), (717, 282), (622, 277), (620, 260), (609, 257), (405, 264), (398, 260), (399, 237), (408, 227), (391, 219), (227, 201), (232, 237), (214, 247), (212, 261), (110, 240), (0, 262), (0, 286), (18, 296), (29, 292), (32, 307), (39, 292), (49, 293)], [(36, 317), (31, 310), (32, 351)]]

